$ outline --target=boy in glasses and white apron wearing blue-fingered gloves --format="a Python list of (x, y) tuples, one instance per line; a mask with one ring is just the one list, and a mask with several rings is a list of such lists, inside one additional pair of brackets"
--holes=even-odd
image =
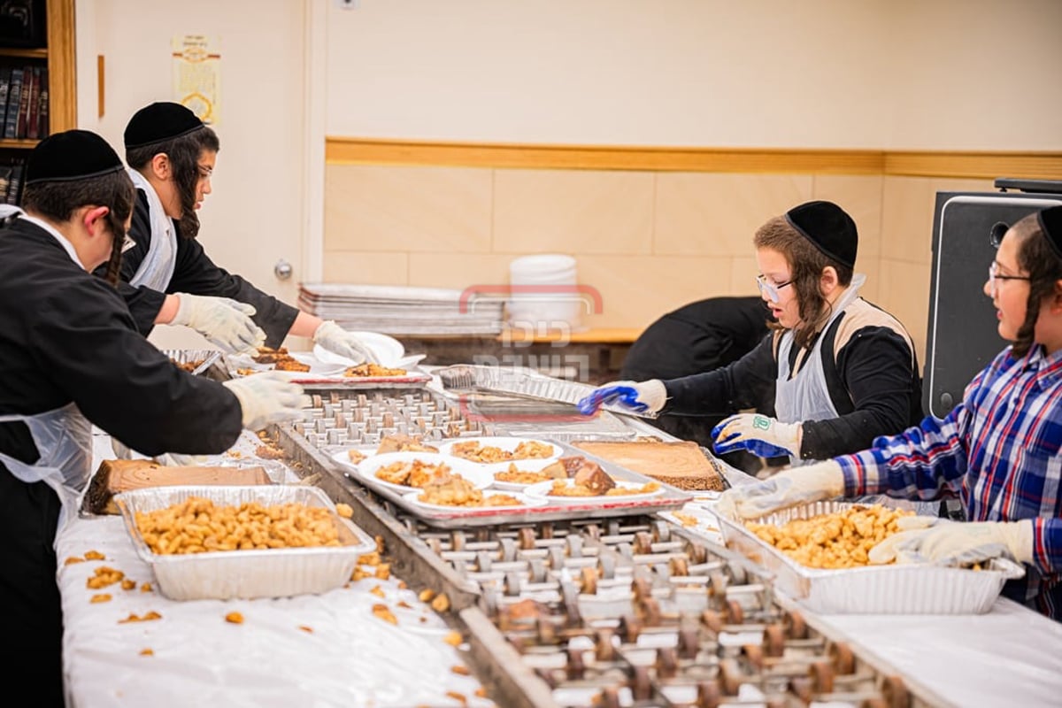
[(713, 429), (715, 450), (793, 463), (868, 447), (922, 419), (922, 381), (911, 338), (891, 314), (859, 297), (858, 234), (832, 202), (801, 204), (757, 229), (760, 296), (774, 335), (722, 368), (662, 381), (616, 381), (580, 402), (709, 416), (774, 400), (776, 418), (733, 415)]

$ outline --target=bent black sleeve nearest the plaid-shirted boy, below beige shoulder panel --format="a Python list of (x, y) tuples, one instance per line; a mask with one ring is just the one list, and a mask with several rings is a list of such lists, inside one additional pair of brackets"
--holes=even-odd
[(907, 342), (887, 327), (864, 327), (837, 352), (852, 411), (804, 422), (801, 457), (828, 460), (870, 448), (878, 435), (908, 427), (914, 373)]

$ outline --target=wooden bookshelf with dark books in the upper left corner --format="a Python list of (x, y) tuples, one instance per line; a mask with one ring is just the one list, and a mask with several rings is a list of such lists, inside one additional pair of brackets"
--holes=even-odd
[(78, 126), (74, 0), (8, 0), (3, 8), (0, 203), (17, 204), (19, 166), (29, 151), (52, 133)]

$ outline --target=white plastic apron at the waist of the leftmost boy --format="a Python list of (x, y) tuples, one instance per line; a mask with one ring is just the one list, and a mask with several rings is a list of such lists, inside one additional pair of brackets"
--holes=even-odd
[(92, 424), (74, 403), (36, 415), (0, 415), (0, 422), (21, 420), (33, 436), (39, 460), (33, 465), (0, 452), (0, 462), (28, 484), (45, 482), (58, 495), (63, 508), (56, 530), (78, 515), (78, 503), (92, 467)]

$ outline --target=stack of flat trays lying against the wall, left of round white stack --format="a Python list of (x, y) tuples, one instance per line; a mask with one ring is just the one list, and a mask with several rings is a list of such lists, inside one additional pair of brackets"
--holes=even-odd
[(388, 334), (497, 334), (504, 300), (472, 290), (303, 283), (298, 307), (344, 329)]

